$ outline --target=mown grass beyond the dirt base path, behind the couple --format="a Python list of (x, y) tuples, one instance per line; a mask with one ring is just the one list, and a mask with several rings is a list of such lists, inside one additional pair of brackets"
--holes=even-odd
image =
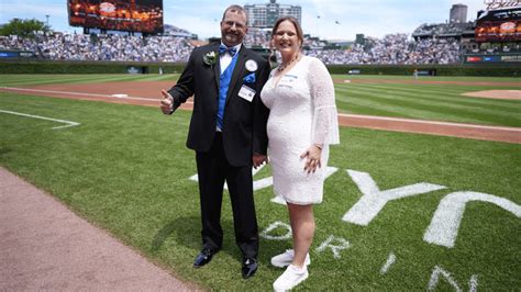
[[(109, 75), (10, 75), (2, 76), (0, 87), (24, 87), (48, 83), (93, 83), (100, 81), (175, 81), (177, 75), (129, 76)], [(392, 85), (378, 80), (407, 80), (407, 76), (333, 76), (334, 79), (374, 79), (373, 83), (336, 85), (336, 105), (340, 112), (400, 116), (421, 120), (450, 121), (488, 125), (521, 126), (521, 103), (512, 100), (477, 99), (461, 96), (464, 92), (503, 89), (520, 90), (521, 78), (478, 77), (420, 77), (436, 81), (494, 81), (498, 86), (456, 85)], [(519, 87), (503, 86), (519, 82)], [(159, 96), (159, 94), (158, 94)]]

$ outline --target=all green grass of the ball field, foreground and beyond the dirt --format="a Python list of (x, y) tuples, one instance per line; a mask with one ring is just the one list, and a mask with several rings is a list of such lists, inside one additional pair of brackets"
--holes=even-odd
[[(0, 86), (16, 87), (175, 77), (1, 79)], [(520, 101), (458, 96), (487, 89), (506, 87), (345, 83), (336, 86), (336, 98), (339, 109), (347, 113), (521, 126)], [(0, 112), (0, 165), (180, 279), (204, 289), (270, 290), (282, 272), (269, 266), (269, 258), (289, 248), (290, 240), (262, 237), (259, 271), (253, 279), (242, 280), (229, 200), (224, 200), (222, 212), (223, 250), (209, 266), (191, 268), (201, 246), (198, 188), (189, 180), (196, 173), (195, 155), (185, 147), (190, 112), (167, 117), (153, 108), (5, 92), (0, 92), (0, 110), (80, 123), (52, 130), (63, 124)], [(330, 166), (337, 171), (325, 181), (324, 202), (315, 206), (318, 228), (310, 278), (298, 290), (445, 291), (453, 289), (451, 281), (462, 290), (519, 290), (519, 215), (494, 203), (473, 201), (465, 205), (454, 247), (428, 243), (423, 236), (441, 200), (450, 193), (489, 194), (519, 209), (521, 145), (361, 128), (341, 128), (341, 141), (332, 147), (330, 158)], [(389, 201), (364, 226), (343, 221), (364, 195), (347, 170), (368, 173), (380, 191), (419, 182), (445, 188)], [(269, 176), (266, 167), (255, 179)], [(277, 222), (288, 224), (285, 206), (271, 203), (273, 196), (270, 188), (255, 192), (260, 231)], [(280, 237), (286, 233), (277, 228), (267, 235)], [(339, 246), (337, 257), (331, 246)], [(390, 255), (395, 261), (385, 270)]]

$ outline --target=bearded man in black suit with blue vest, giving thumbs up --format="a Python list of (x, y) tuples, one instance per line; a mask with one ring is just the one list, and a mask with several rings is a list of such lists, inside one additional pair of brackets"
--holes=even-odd
[(163, 90), (160, 106), (165, 114), (171, 114), (195, 97), (187, 146), (196, 150), (203, 248), (193, 267), (204, 266), (221, 249), (221, 204), (226, 181), (245, 279), (257, 270), (252, 166), (266, 160), (269, 112), (260, 101), (260, 90), (270, 70), (265, 58), (242, 44), (246, 33), (244, 9), (229, 7), (221, 21), (221, 44), (193, 49), (176, 86)]

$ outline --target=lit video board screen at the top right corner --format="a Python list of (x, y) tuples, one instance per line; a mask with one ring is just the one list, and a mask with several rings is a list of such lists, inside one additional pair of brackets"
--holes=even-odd
[(477, 42), (521, 41), (521, 9), (486, 11), (476, 25)]

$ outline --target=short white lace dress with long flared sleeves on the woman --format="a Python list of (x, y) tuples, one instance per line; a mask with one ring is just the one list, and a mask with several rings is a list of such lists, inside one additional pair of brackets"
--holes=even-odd
[[(322, 61), (308, 56), (277, 83), (271, 76), (260, 98), (270, 110), (267, 133), (274, 192), (293, 204), (321, 203), (329, 145), (340, 143), (333, 80)], [(300, 155), (313, 144), (324, 145), (322, 167), (308, 175)]]

